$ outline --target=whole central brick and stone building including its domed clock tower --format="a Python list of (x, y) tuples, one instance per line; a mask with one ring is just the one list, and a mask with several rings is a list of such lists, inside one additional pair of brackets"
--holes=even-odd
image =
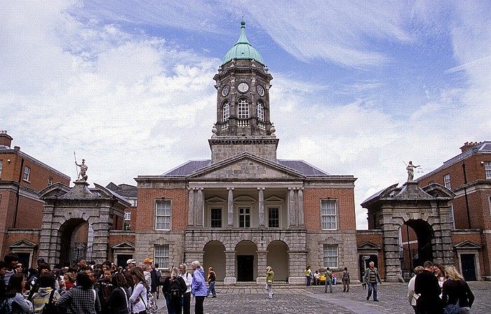
[(134, 257), (163, 268), (199, 260), (226, 285), (264, 282), (268, 265), (293, 285), (307, 265), (358, 269), (356, 178), (276, 157), (272, 76), (245, 22), (214, 80), (211, 158), (136, 178)]

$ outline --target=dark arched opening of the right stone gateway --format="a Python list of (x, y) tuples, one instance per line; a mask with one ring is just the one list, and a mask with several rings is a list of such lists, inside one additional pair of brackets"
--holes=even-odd
[(431, 226), (422, 219), (410, 219), (399, 228), (401, 272), (405, 281), (412, 278), (416, 266), (433, 261), (432, 238)]

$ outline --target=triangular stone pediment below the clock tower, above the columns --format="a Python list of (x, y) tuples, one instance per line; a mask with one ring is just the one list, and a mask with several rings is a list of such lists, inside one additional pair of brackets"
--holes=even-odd
[(213, 163), (191, 172), (188, 179), (303, 179), (296, 170), (274, 163), (253, 153), (236, 156)]

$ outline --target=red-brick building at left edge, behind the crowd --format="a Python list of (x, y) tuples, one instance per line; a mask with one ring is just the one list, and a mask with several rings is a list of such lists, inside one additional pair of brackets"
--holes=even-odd
[[(25, 266), (39, 250), (44, 202), (38, 193), (70, 178), (20, 150), (13, 138), (0, 131), (0, 256), (16, 252)], [(28, 219), (27, 219), (28, 217)]]

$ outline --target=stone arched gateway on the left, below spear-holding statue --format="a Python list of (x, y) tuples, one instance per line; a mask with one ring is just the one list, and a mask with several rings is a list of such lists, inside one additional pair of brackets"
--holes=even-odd
[(39, 257), (51, 265), (107, 259), (109, 231), (122, 224), (124, 209), (130, 207), (103, 186), (89, 190), (85, 181), (74, 184), (72, 189), (53, 184), (39, 192), (45, 202)]

